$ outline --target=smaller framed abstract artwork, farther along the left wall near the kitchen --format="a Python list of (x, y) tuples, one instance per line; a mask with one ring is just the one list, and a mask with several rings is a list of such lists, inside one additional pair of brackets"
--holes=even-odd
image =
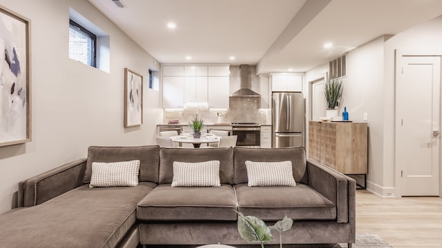
[(124, 127), (143, 123), (143, 76), (124, 68)]

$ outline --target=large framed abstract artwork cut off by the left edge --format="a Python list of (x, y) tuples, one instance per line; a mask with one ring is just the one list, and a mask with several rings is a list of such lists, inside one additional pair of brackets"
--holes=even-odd
[(0, 6), (0, 146), (31, 140), (29, 25)]

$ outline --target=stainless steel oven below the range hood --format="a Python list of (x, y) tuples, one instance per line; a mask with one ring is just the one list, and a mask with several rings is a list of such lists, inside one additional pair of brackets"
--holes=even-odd
[(238, 135), (236, 146), (260, 147), (261, 127), (258, 123), (232, 123), (232, 134)]

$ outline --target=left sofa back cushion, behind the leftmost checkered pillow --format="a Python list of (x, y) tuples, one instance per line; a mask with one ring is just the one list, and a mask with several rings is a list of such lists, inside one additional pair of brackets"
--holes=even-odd
[(158, 183), (160, 147), (157, 145), (140, 147), (89, 147), (83, 183), (90, 183), (93, 162), (111, 163), (133, 160), (140, 161), (140, 174), (138, 174), (138, 179), (141, 182)]

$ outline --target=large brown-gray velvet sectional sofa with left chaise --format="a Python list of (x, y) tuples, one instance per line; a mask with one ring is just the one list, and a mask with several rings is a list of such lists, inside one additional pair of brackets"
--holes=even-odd
[[(139, 185), (88, 187), (93, 162), (140, 160)], [(221, 187), (171, 187), (173, 162), (220, 161)], [(245, 161), (291, 161), (295, 187), (248, 187)], [(302, 147), (90, 147), (88, 158), (19, 183), (19, 209), (0, 215), (0, 247), (245, 245), (237, 215), (295, 220), (285, 244), (355, 241), (352, 178)], [(278, 243), (278, 240), (274, 240)]]

